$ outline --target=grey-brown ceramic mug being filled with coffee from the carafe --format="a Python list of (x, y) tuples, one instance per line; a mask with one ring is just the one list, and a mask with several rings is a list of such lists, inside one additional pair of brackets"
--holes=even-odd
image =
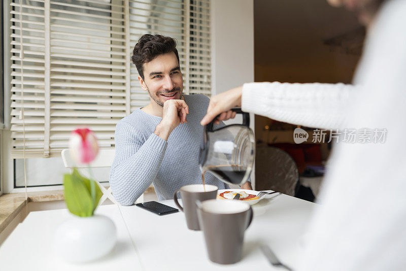
[[(206, 185), (206, 191), (202, 184), (190, 184), (182, 186), (175, 191), (174, 201), (179, 209), (185, 213), (186, 224), (189, 229), (200, 230), (199, 221), (196, 213), (196, 200), (204, 201), (214, 199), (217, 197), (217, 190), (219, 188), (215, 185)], [(178, 192), (181, 193), (183, 207), (178, 202)]]

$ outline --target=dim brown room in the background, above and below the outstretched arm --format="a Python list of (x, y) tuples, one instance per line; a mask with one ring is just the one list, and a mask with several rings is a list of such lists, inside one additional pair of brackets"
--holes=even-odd
[[(322, 0), (254, 1), (254, 62), (256, 82), (345, 83), (352, 82), (361, 56), (365, 28), (354, 14), (336, 9)], [(313, 139), (313, 127), (302, 127), (309, 133), (306, 142), (295, 144), (295, 125), (255, 116), (257, 140), (256, 188), (273, 187), (289, 190), (295, 178), (278, 183), (268, 178), (281, 170), (280, 161), (263, 159), (280, 148), (293, 158), (300, 175), (299, 183), (307, 189), (290, 190), (311, 200), (317, 197), (323, 180), (307, 166), (321, 166), (327, 160), (333, 144), (326, 132), (325, 142)], [(283, 159), (283, 158), (282, 158)], [(323, 166), (324, 167), (324, 166)], [(315, 167), (319, 170), (319, 167)], [(288, 171), (285, 168), (285, 171)]]

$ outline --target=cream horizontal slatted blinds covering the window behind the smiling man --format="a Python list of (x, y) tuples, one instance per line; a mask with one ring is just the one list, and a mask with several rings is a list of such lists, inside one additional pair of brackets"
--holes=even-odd
[(59, 156), (80, 126), (114, 146), (116, 123), (149, 103), (130, 63), (144, 33), (177, 39), (184, 92), (211, 93), (209, 1), (19, 1), (10, 3), (13, 158), (23, 146), (26, 157)]

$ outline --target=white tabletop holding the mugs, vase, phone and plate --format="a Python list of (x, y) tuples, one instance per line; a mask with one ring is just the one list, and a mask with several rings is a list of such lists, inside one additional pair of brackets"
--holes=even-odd
[[(161, 201), (175, 207), (173, 200)], [(97, 213), (113, 219), (118, 243), (112, 253), (95, 262), (69, 264), (54, 255), (53, 232), (69, 218), (67, 210), (32, 212), (0, 247), (2, 270), (277, 270), (258, 245), (268, 244), (280, 260), (294, 267), (304, 230), (315, 208), (312, 202), (287, 195), (264, 199), (253, 206), (246, 230), (243, 259), (232, 265), (212, 263), (201, 231), (187, 229), (182, 212), (158, 216), (137, 206), (99, 206)], [(121, 217), (120, 208), (123, 217)], [(128, 231), (126, 229), (128, 227)]]

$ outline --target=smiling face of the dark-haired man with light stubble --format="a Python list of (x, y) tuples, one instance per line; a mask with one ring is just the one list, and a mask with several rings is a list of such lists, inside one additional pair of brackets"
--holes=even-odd
[(141, 87), (148, 90), (151, 103), (163, 107), (168, 99), (180, 99), (183, 79), (178, 59), (174, 52), (158, 55), (144, 64), (144, 80), (138, 77)]

